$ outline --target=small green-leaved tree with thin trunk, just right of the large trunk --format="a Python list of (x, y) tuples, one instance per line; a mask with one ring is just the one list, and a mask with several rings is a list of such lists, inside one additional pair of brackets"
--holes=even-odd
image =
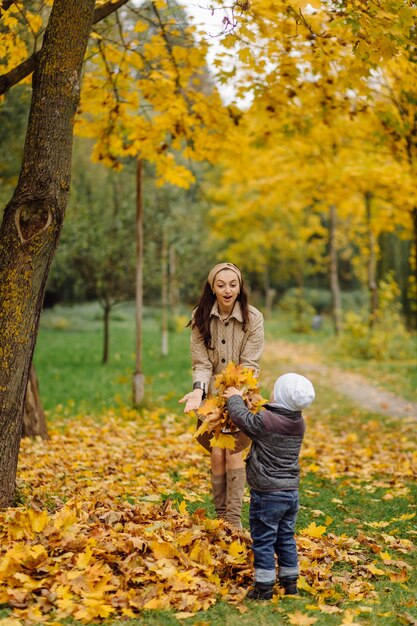
[[(135, 240), (132, 205), (126, 172), (116, 173), (96, 165), (84, 175), (89, 154), (78, 146), (73, 172), (73, 193), (63, 229), (55, 284), (70, 282), (73, 295), (95, 299), (103, 313), (102, 362), (110, 356), (110, 317), (120, 302), (134, 296)], [(94, 176), (94, 178), (93, 178)]]

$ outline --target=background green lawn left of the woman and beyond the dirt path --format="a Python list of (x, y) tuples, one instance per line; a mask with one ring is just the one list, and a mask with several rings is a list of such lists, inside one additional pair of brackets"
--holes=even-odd
[[(191, 386), (189, 330), (186, 316), (169, 334), (169, 354), (161, 355), (160, 311), (145, 309), (143, 321), (143, 372), (145, 405), (157, 404), (175, 410), (178, 398)], [(184, 321), (185, 320), (185, 321)], [(266, 321), (267, 339), (284, 339), (298, 345), (320, 348), (327, 363), (362, 373), (410, 400), (415, 400), (417, 367), (413, 361), (364, 361), (341, 355), (334, 349), (330, 321), (325, 318), (319, 331), (296, 333), (288, 315), (274, 315)], [(417, 337), (416, 353), (417, 353)], [(134, 308), (115, 308), (110, 331), (110, 358), (101, 363), (103, 324), (100, 307), (83, 304), (55, 307), (45, 311), (35, 350), (42, 401), (47, 410), (62, 405), (64, 414), (78, 411), (100, 413), (117, 404), (130, 404), (135, 370)], [(264, 390), (266, 393), (268, 390)]]

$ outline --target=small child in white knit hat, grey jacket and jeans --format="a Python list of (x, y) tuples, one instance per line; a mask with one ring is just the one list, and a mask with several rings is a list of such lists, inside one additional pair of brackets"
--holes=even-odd
[(274, 385), (271, 402), (251, 413), (242, 392), (224, 392), (229, 417), (252, 439), (246, 459), (251, 490), (250, 532), (255, 562), (255, 585), (247, 595), (270, 600), (275, 584), (275, 554), (279, 584), (285, 594), (297, 594), (298, 556), (294, 529), (300, 482), (299, 454), (305, 424), (301, 410), (314, 400), (311, 382), (299, 374), (284, 374)]

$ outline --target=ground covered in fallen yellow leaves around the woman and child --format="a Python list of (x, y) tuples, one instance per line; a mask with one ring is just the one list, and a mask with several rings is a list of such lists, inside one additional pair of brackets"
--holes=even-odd
[[(415, 624), (415, 420), (384, 422), (314, 382), (301, 596), (285, 608), (277, 590), (271, 606), (295, 625)], [(219, 601), (250, 623), (249, 535), (211, 518), (193, 420), (160, 408), (50, 421), (50, 441), (22, 442), (20, 505), (0, 514), (0, 603), (12, 607), (0, 626), (156, 609), (210, 624), (199, 615)]]

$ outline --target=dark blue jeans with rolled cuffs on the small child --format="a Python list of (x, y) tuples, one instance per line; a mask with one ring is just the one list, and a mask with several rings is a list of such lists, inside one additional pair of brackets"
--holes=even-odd
[(297, 578), (294, 531), (298, 509), (298, 490), (270, 493), (251, 490), (249, 523), (257, 582), (275, 581), (275, 554), (278, 576)]

